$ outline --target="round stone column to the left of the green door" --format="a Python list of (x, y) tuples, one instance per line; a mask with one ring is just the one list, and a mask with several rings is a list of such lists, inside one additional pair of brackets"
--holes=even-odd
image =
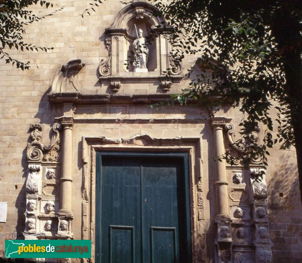
[(64, 105), (60, 210), (58, 215), (72, 217), (72, 105)]

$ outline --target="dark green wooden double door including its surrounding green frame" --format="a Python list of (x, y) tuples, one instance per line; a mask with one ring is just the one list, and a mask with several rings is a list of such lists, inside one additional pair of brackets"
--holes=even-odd
[(98, 153), (96, 262), (191, 262), (186, 153)]

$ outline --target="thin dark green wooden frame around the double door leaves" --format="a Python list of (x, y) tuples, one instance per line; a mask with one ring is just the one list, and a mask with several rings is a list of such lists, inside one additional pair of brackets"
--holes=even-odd
[[(189, 181), (189, 160), (187, 152), (139, 152), (139, 151), (97, 151), (96, 152), (96, 191), (95, 191), (95, 262), (101, 263), (101, 255), (97, 253), (97, 248), (102, 247), (102, 229), (101, 229), (101, 174), (102, 174), (102, 157), (118, 156), (118, 157), (165, 157), (165, 158), (181, 158), (184, 167), (185, 182), (185, 199), (186, 199), (186, 236), (187, 251), (189, 262), (192, 262), (192, 233), (191, 233), (191, 206), (190, 206), (190, 181)], [(99, 190), (98, 190), (99, 189)]]

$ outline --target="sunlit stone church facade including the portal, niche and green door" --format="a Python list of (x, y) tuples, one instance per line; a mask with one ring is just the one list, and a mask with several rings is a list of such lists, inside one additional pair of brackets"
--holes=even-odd
[[(12, 50), (38, 68), (0, 61), (1, 256), (5, 239), (90, 239), (91, 259), (37, 260), (302, 262), (294, 148), (246, 169), (237, 109), (152, 107), (188, 86), (199, 55), (173, 64), (149, 2), (83, 19), (83, 0), (63, 2), (24, 37), (53, 50)], [(226, 149), (233, 166), (213, 160)]]

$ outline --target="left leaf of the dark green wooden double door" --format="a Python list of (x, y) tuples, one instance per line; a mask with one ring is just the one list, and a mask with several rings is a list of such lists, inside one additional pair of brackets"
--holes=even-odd
[(102, 159), (102, 262), (139, 262), (140, 167), (133, 158)]

